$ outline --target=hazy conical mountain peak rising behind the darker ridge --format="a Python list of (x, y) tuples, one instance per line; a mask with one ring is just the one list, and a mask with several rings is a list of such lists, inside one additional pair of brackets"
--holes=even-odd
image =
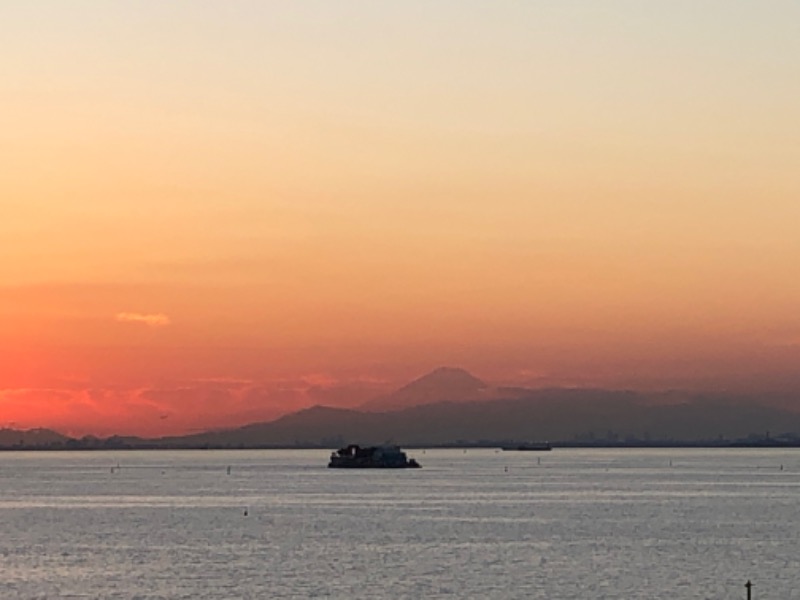
[(435, 402), (465, 402), (492, 397), (493, 388), (464, 369), (440, 367), (391, 394), (365, 402), (359, 410), (386, 412)]

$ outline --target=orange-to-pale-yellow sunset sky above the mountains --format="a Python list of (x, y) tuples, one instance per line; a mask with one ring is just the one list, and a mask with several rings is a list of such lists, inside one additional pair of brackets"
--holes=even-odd
[(33, 0), (0, 50), (0, 427), (800, 393), (794, 0)]

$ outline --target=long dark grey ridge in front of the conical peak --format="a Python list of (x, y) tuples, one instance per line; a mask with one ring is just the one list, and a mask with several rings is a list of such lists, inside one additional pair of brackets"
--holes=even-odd
[[(575, 444), (800, 439), (800, 413), (725, 396), (653, 404), (629, 391), (553, 389), (522, 398), (439, 402), (391, 412), (317, 406), (269, 423), (161, 440), (168, 446), (326, 446), (394, 442), (448, 445), (499, 441)], [(793, 437), (794, 436), (794, 437)]]

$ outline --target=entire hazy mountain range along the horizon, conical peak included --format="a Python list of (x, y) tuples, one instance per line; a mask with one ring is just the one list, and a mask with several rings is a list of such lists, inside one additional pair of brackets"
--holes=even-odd
[(335, 448), (512, 441), (646, 445), (748, 439), (800, 445), (794, 399), (782, 397), (781, 405), (767, 400), (724, 393), (494, 387), (463, 369), (440, 368), (359, 410), (314, 406), (270, 422), (159, 439), (72, 439), (46, 429), (3, 429), (0, 448)]

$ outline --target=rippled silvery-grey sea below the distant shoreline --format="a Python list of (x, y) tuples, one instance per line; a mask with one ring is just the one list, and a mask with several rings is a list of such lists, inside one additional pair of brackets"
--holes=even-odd
[(800, 449), (0, 453), (0, 598), (800, 599)]

